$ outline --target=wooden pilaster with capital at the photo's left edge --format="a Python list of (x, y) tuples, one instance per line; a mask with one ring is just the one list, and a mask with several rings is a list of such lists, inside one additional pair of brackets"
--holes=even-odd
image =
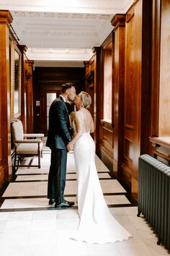
[(12, 173), (10, 131), (9, 24), (12, 15), (0, 12), (0, 184)]

